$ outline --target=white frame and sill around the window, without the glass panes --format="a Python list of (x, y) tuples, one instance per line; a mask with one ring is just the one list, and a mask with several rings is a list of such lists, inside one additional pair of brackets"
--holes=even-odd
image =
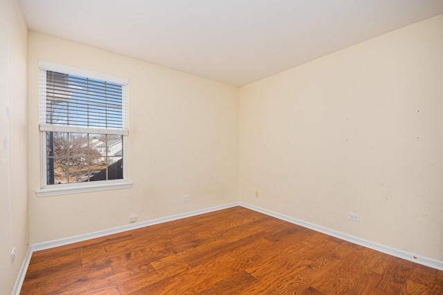
[[(98, 73), (93, 72), (91, 70), (84, 70), (82, 68), (74, 68), (72, 66), (65, 66), (61, 64), (55, 64), (49, 61), (42, 61), (39, 60), (39, 72), (42, 70), (46, 71), (54, 71), (59, 73), (66, 73), (69, 75), (78, 75), (81, 77), (89, 77), (91, 79), (99, 79), (104, 80), (107, 82), (114, 82), (118, 84), (122, 84), (125, 86), (125, 92), (126, 92), (126, 106), (129, 108), (129, 86), (128, 86), (128, 79), (123, 77), (116, 77), (114, 75), (108, 75), (104, 73)], [(46, 75), (45, 75), (46, 76)], [(41, 187), (38, 189), (35, 193), (39, 197), (46, 197), (46, 196), (60, 196), (60, 195), (66, 195), (71, 193), (86, 193), (89, 191), (106, 191), (111, 189), (129, 189), (132, 187), (132, 182), (128, 181), (128, 169), (127, 169), (127, 162), (128, 162), (128, 149), (127, 149), (127, 137), (129, 134), (129, 115), (128, 110), (126, 113), (123, 113), (123, 119), (124, 124), (123, 128), (119, 131), (120, 133), (123, 132), (125, 134), (123, 135), (123, 179), (118, 180), (101, 180), (97, 182), (71, 182), (66, 184), (47, 184), (47, 173), (46, 171), (46, 134), (48, 127), (53, 130), (49, 131), (55, 131), (55, 132), (78, 132), (78, 133), (96, 133), (96, 131), (100, 130), (100, 133), (105, 134), (116, 134), (114, 131), (116, 129), (105, 129), (105, 128), (92, 128), (89, 129), (88, 127), (83, 126), (76, 126), (75, 131), (72, 130), (71, 127), (68, 127), (67, 130), (64, 129), (65, 126), (63, 125), (48, 125), (44, 124), (44, 128), (42, 129), (42, 122), (40, 122), (40, 117), (44, 116), (46, 117), (46, 114), (40, 113), (42, 110), (40, 108), (40, 104), (42, 103), (42, 99), (44, 99), (44, 102), (46, 102), (46, 78), (43, 79), (43, 82), (41, 81), (42, 77), (39, 74), (39, 133), (40, 133), (40, 156), (41, 156), (41, 162), (40, 162), (40, 169), (41, 169)], [(44, 97), (44, 98), (42, 98)], [(46, 111), (46, 107), (44, 108), (44, 111)]]

